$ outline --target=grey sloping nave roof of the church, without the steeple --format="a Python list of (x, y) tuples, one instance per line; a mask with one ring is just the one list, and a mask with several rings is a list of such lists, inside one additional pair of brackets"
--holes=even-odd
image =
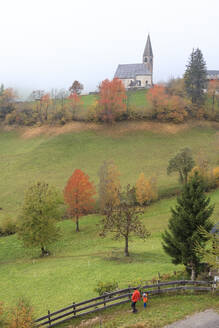
[(119, 79), (135, 78), (136, 75), (151, 75), (145, 64), (125, 64), (117, 67), (114, 77)]

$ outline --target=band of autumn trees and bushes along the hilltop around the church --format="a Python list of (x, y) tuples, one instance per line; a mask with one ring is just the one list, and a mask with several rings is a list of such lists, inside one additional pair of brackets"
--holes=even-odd
[[(66, 124), (74, 120), (113, 123), (151, 119), (181, 123), (190, 118), (219, 121), (219, 80), (207, 80), (200, 49), (193, 50), (183, 78), (145, 90), (145, 107), (129, 104), (129, 93), (119, 79), (98, 86), (95, 101), (84, 106), (83, 85), (75, 80), (68, 90), (35, 90), (29, 101), (18, 102), (13, 89), (0, 89), (0, 120), (5, 124)], [(85, 108), (86, 107), (86, 108)], [(82, 114), (83, 113), (83, 114)]]

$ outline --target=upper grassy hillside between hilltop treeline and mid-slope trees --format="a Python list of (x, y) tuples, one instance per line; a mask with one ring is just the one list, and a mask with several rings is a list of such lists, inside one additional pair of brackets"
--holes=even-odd
[(17, 214), (33, 180), (45, 180), (62, 191), (80, 168), (97, 185), (99, 167), (107, 159), (115, 161), (122, 184), (135, 184), (144, 172), (156, 177), (160, 193), (178, 186), (177, 174), (167, 176), (166, 168), (181, 148), (190, 147), (195, 158), (204, 154), (212, 166), (218, 161), (218, 126), (210, 123), (124, 122), (111, 127), (74, 123), (40, 129), (0, 131), (0, 218)]

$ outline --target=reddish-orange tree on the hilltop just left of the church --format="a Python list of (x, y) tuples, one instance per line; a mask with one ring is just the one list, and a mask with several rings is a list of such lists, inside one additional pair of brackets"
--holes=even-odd
[(121, 80), (106, 79), (99, 86), (99, 115), (101, 120), (112, 123), (126, 112), (126, 91)]

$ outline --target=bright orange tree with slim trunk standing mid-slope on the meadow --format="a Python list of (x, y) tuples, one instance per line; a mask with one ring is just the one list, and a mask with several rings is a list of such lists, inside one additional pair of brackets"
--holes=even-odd
[(92, 210), (95, 194), (95, 187), (89, 181), (88, 175), (76, 169), (65, 186), (64, 199), (68, 205), (69, 214), (76, 220), (77, 232), (79, 218)]

